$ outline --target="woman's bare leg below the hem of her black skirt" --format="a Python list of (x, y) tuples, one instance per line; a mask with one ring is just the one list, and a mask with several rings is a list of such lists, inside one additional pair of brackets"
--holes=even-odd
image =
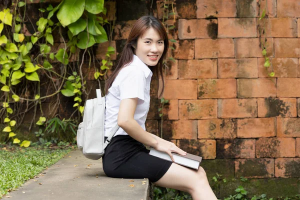
[(167, 172), (154, 184), (186, 191), (191, 194), (193, 200), (217, 199), (201, 166), (198, 170), (195, 170), (172, 163)]

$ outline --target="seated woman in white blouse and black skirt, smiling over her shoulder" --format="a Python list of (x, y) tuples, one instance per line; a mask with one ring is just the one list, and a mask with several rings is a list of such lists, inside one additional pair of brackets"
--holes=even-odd
[[(168, 38), (162, 23), (142, 16), (133, 25), (115, 70), (106, 81), (105, 139), (117, 123), (119, 129), (105, 148), (103, 170), (118, 178), (148, 178), (158, 186), (186, 191), (193, 199), (217, 199), (205, 171), (187, 168), (149, 155), (144, 145), (185, 155), (174, 143), (145, 131), (152, 71), (162, 78), (162, 60)], [(161, 95), (160, 93), (160, 95)]]

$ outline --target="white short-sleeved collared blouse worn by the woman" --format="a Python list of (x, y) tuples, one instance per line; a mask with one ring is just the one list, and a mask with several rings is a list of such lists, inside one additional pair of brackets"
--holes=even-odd
[[(123, 67), (115, 77), (106, 95), (104, 132), (107, 137), (117, 123), (120, 101), (124, 98), (138, 98), (134, 119), (145, 130), (145, 120), (150, 105), (150, 82), (152, 71), (136, 55), (131, 63)], [(127, 135), (119, 127), (115, 135)]]

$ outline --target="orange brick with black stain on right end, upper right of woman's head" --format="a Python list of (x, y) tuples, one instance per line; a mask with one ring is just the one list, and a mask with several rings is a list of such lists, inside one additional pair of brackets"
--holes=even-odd
[(217, 35), (216, 19), (179, 19), (179, 39), (216, 38)]

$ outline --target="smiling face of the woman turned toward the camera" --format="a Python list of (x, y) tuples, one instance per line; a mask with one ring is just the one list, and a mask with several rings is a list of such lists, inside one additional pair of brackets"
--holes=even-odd
[(148, 66), (155, 66), (164, 49), (163, 39), (152, 27), (138, 37), (135, 55)]

